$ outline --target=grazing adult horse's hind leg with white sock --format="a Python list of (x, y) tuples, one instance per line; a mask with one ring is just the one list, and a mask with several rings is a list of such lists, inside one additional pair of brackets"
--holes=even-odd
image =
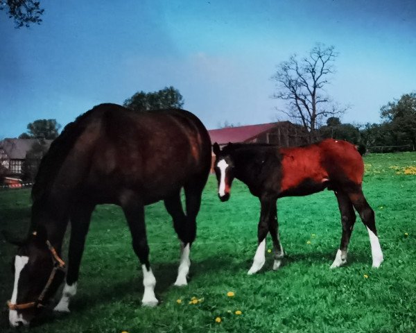
[(187, 285), (187, 275), (189, 273), (189, 266), (191, 266), (191, 261), (189, 260), (189, 251), (190, 246), (187, 242), (187, 216), (185, 216), (182, 209), (182, 203), (180, 200), (180, 192), (166, 198), (164, 200), (166, 210), (171, 214), (173, 219), (173, 227), (179, 237), (180, 243), (180, 264), (177, 269), (177, 278), (175, 281), (175, 286), (185, 286)]

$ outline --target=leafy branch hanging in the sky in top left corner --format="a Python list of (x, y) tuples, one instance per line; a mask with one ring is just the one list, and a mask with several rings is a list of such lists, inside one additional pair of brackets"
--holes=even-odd
[(33, 0), (0, 0), (0, 10), (7, 10), (10, 19), (15, 20), (16, 28), (40, 24), (44, 9), (39, 1)]

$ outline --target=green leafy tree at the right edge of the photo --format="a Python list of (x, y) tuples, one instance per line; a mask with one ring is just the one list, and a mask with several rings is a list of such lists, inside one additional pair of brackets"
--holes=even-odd
[(397, 141), (410, 140), (416, 149), (416, 92), (404, 94), (398, 101), (389, 102), (380, 109), (381, 119), (389, 123)]

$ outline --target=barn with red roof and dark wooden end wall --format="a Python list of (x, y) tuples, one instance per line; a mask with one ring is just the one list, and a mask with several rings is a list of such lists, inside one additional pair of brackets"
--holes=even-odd
[[(300, 146), (307, 144), (309, 137), (309, 133), (302, 126), (291, 123), (291, 121), (218, 128), (209, 130), (208, 133), (211, 143), (216, 142), (221, 147), (229, 142), (276, 144), (281, 147)], [(213, 154), (213, 166), (214, 160), (215, 155)]]

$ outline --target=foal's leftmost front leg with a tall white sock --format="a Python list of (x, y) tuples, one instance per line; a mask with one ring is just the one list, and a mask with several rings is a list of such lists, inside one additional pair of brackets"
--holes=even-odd
[(257, 227), (257, 250), (254, 255), (253, 264), (248, 271), (252, 275), (260, 271), (266, 262), (266, 236), (269, 232), (270, 219), (276, 221), (276, 199), (269, 197), (260, 198), (261, 212)]

